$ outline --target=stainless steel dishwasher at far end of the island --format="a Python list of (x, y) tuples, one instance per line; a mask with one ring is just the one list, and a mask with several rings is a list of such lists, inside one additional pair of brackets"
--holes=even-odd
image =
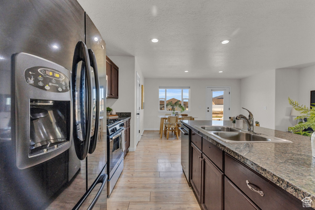
[(180, 131), (181, 135), (181, 166), (185, 173), (187, 182), (190, 182), (190, 173), (189, 173), (189, 156), (190, 156), (190, 129), (187, 128), (184, 124), (181, 124)]

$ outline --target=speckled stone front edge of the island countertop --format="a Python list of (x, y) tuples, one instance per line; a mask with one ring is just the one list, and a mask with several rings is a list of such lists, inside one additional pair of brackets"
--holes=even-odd
[[(181, 121), (181, 123), (186, 125), (188, 128), (192, 129), (194, 132), (198, 133), (203, 138), (207, 139), (209, 142), (211, 142), (212, 144), (216, 145), (221, 150), (225, 151), (230, 156), (234, 157), (235, 159), (237, 159), (238, 161), (242, 162), (243, 164), (245, 164), (246, 166), (248, 166), (249, 168), (251, 168), (255, 172), (259, 173), (261, 176), (265, 177), (266, 179), (268, 179), (272, 183), (274, 183), (277, 186), (281, 187), (282, 189), (287, 191), (292, 196), (295, 196), (300, 201), (302, 199), (304, 199), (305, 197), (311, 197), (311, 200), (315, 201), (315, 193), (307, 192), (308, 190), (302, 189), (301, 187), (298, 187), (295, 184), (290, 183), (289, 181), (285, 180), (284, 178), (281, 178), (280, 175), (272, 173), (271, 171), (267, 170), (266, 168), (260, 166), (259, 164), (249, 160), (248, 158), (246, 158), (243, 155), (239, 154), (237, 151), (234, 151), (233, 149), (229, 148), (227, 145), (223, 145), (224, 143), (227, 143), (227, 142), (223, 142), (220, 139), (215, 138), (214, 136), (212, 136), (211, 134), (207, 133), (206, 131), (203, 131), (202, 129), (199, 129), (199, 128), (195, 127), (195, 125), (190, 125), (190, 122), (192, 122), (192, 124), (194, 124), (193, 121)], [(198, 120), (196, 120), (195, 122), (198, 122)], [(205, 122), (205, 121), (203, 121), (203, 122)], [(208, 121), (208, 123), (209, 123), (209, 121)], [(231, 123), (232, 122), (229, 122), (229, 125), (223, 125), (223, 126), (231, 126), (230, 125)], [(204, 123), (204, 125), (207, 125), (207, 124)], [(201, 126), (201, 125), (196, 124), (196, 126)], [(215, 125), (215, 126), (217, 126), (217, 125)], [(245, 127), (243, 127), (243, 128), (246, 128), (246, 124), (244, 124), (244, 126)], [(258, 131), (258, 132), (260, 132), (260, 131)], [(284, 133), (286, 133), (286, 132), (284, 132)], [(241, 144), (241, 143), (230, 143), (230, 144)], [(277, 143), (252, 143), (252, 144), (277, 144)], [(278, 143), (278, 144), (287, 144), (287, 143)], [(313, 189), (315, 191), (315, 188), (313, 188)], [(311, 202), (311, 207), (315, 208), (315, 202)]]

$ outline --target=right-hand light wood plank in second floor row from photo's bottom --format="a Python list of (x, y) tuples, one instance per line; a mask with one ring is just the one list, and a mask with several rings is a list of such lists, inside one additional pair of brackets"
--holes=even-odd
[(196, 201), (191, 192), (151, 192), (150, 201)]

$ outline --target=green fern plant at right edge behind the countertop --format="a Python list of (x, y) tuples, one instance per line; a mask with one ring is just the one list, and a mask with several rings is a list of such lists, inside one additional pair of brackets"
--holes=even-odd
[(303, 116), (297, 116), (295, 119), (303, 119), (307, 117), (306, 122), (298, 123), (293, 127), (289, 127), (289, 131), (292, 131), (295, 134), (303, 135), (303, 136), (311, 136), (311, 131), (303, 131), (306, 128), (312, 128), (315, 130), (315, 106), (311, 106), (311, 109), (306, 107), (305, 105), (300, 105), (297, 101), (293, 101), (288, 98), (289, 104), (293, 106), (296, 111), (301, 112)]

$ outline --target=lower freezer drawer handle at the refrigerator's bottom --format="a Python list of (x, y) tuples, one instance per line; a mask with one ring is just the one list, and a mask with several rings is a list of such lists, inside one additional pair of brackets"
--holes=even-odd
[(79, 202), (77, 202), (77, 204), (73, 207), (72, 210), (77, 210), (81, 207), (81, 205), (83, 204), (83, 202), (88, 198), (88, 196), (90, 195), (90, 193), (92, 192), (92, 190), (95, 188), (95, 186), (97, 184), (102, 183), (102, 185), (100, 186), (100, 189), (98, 190), (98, 192), (96, 193), (96, 196), (94, 197), (92, 203), (89, 205), (88, 210), (93, 209), (93, 207), (95, 206), (96, 202), (98, 201), (98, 199), (100, 198), (100, 195), (102, 193), (102, 191), (105, 188), (105, 185), (107, 184), (107, 174), (106, 173), (102, 173), (100, 175), (100, 177), (98, 179), (96, 179), (93, 184), (90, 186), (89, 190), (86, 191), (86, 193), (82, 196), (82, 198), (80, 199)]

